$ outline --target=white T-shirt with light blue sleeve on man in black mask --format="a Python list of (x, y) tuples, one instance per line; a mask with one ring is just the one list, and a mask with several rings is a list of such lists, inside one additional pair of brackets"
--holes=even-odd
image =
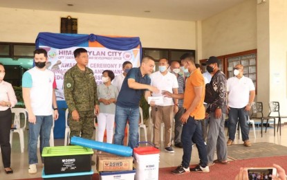
[(54, 73), (36, 67), (23, 74), (22, 87), (30, 88), (30, 102), (35, 116), (53, 114), (53, 88), (55, 89)]

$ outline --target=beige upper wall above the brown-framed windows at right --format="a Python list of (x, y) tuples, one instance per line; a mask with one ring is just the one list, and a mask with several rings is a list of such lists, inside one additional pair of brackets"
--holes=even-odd
[(203, 20), (203, 58), (257, 48), (256, 6), (256, 1), (247, 0)]

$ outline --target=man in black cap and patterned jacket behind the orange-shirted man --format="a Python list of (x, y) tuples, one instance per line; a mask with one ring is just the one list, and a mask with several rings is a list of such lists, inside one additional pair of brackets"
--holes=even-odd
[[(226, 105), (226, 78), (219, 70), (220, 61), (211, 56), (206, 62), (207, 71), (212, 74), (210, 81), (211, 87), (216, 92), (216, 98), (208, 103), (206, 113), (210, 118), (210, 125), (207, 133), (207, 159), (208, 165), (214, 163), (228, 163), (227, 145), (225, 141), (224, 123), (227, 113)], [(214, 161), (214, 152), (216, 150), (217, 160)]]

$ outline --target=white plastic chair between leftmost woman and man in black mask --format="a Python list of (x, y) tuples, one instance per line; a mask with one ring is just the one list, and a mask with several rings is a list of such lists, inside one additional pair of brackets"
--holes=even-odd
[[(19, 134), (19, 139), (20, 139), (20, 147), (21, 147), (21, 153), (24, 152), (24, 130), (26, 128), (26, 120), (27, 120), (27, 115), (26, 115), (26, 109), (24, 108), (12, 108), (11, 109), (12, 114), (14, 115), (14, 127), (16, 129), (11, 129), (10, 130), (10, 145), (12, 147), (12, 141), (13, 141), (13, 133), (17, 132)], [(20, 114), (24, 114), (24, 125), (21, 127), (21, 118)]]

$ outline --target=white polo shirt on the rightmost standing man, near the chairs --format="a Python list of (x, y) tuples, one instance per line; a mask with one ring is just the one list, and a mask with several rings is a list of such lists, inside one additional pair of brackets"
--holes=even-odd
[(243, 108), (249, 102), (250, 91), (254, 91), (255, 87), (250, 78), (243, 76), (242, 78), (232, 77), (227, 82), (228, 106), (233, 108)]

